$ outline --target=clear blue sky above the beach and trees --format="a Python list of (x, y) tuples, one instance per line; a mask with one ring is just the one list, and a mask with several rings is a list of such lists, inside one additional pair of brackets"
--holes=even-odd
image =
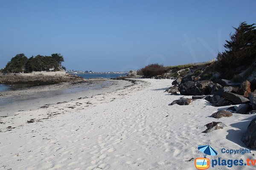
[(16, 54), (61, 53), (67, 69), (129, 71), (209, 61), (255, 0), (1, 0), (0, 68)]

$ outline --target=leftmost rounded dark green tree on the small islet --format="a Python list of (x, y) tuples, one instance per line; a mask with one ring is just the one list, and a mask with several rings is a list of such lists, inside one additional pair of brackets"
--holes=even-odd
[(20, 73), (25, 71), (25, 66), (27, 62), (27, 57), (24, 54), (17, 54), (15, 57), (12, 57), (11, 61), (6, 64), (4, 72), (10, 73)]

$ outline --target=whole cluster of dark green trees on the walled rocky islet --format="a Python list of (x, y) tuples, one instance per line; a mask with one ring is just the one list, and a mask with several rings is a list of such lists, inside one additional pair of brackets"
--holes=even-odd
[(7, 63), (3, 72), (20, 73), (20, 72), (32, 72), (32, 71), (59, 71), (65, 70), (65, 67), (61, 65), (64, 62), (64, 58), (61, 54), (52, 54), (51, 56), (32, 56), (29, 59), (24, 54), (17, 54)]

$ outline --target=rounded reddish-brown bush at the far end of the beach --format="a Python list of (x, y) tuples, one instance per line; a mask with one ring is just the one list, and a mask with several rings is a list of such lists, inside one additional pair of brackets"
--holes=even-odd
[(156, 63), (147, 65), (144, 68), (141, 68), (140, 71), (143, 73), (144, 77), (150, 78), (165, 73), (165, 67)]

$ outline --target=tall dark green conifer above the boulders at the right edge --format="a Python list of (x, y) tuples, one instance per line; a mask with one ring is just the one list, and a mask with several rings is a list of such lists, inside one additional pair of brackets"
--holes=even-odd
[(243, 22), (235, 33), (230, 36), (230, 41), (224, 45), (226, 50), (219, 53), (216, 62), (223, 78), (231, 79), (241, 72), (244, 67), (256, 60), (256, 26)]

